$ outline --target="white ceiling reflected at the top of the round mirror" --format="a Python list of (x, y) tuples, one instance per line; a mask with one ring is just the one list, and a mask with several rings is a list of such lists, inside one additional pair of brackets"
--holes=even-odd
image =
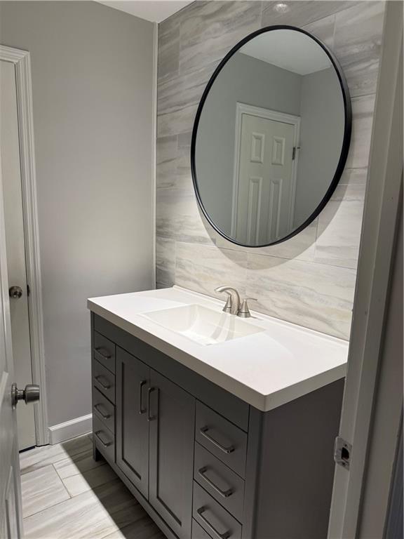
[(299, 75), (321, 71), (331, 65), (328, 55), (314, 39), (294, 30), (265, 32), (248, 41), (239, 52)]

